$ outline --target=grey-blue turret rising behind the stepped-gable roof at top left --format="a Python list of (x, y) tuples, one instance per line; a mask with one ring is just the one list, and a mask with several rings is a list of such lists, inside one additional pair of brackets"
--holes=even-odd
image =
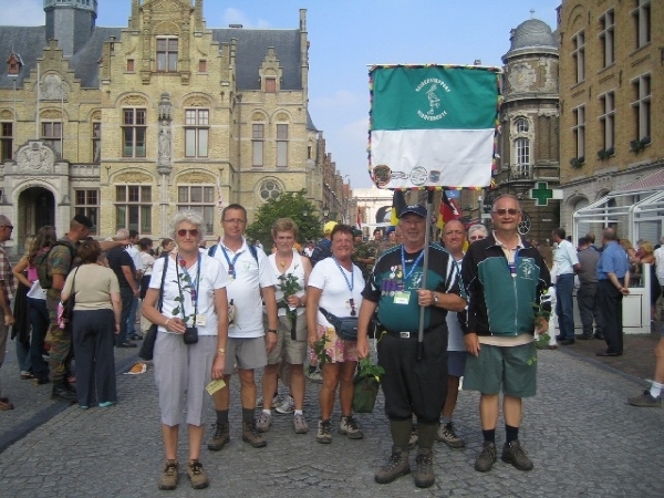
[(90, 40), (97, 0), (44, 0), (46, 42), (58, 40), (63, 55), (75, 54)]

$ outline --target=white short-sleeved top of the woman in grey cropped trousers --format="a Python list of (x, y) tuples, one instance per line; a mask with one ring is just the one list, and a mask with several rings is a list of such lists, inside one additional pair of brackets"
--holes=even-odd
[[(162, 307), (162, 313), (165, 317), (175, 317), (173, 310), (180, 305), (175, 298), (179, 297), (179, 289), (177, 284), (177, 270), (176, 261), (172, 256), (168, 258), (158, 258), (153, 267), (152, 279), (149, 280), (151, 289), (159, 289), (162, 284), (162, 274), (164, 273), (164, 263), (168, 259), (168, 268), (166, 269), (166, 278), (164, 279), (164, 304)], [(199, 260), (200, 267), (200, 282), (198, 283), (198, 314), (205, 315), (205, 325), (197, 323), (198, 335), (217, 335), (217, 326), (219, 324), (217, 313), (215, 312), (215, 290), (224, 289), (230, 283), (228, 274), (221, 268), (221, 264), (207, 255), (200, 255)], [(191, 277), (191, 280), (196, 279), (198, 272), (198, 262), (195, 263), (187, 271)], [(183, 278), (183, 271), (179, 270), (180, 281)], [(184, 282), (183, 282), (184, 284)], [(191, 315), (193, 323), (194, 315), (194, 303), (191, 302), (191, 293), (183, 289), (183, 297), (185, 298), (185, 314)], [(181, 312), (178, 313), (179, 318), (183, 318)], [(159, 332), (168, 332), (164, 326), (159, 325)]]

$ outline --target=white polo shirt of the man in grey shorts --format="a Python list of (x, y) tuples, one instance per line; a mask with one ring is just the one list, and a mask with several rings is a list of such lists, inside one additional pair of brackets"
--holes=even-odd
[[(225, 252), (226, 251), (226, 252)], [(239, 255), (239, 256), (238, 256)], [(226, 291), (228, 302), (232, 300), (236, 308), (234, 323), (228, 328), (228, 336), (236, 339), (262, 338), (266, 334), (262, 323), (262, 300), (260, 289), (277, 287), (277, 277), (270, 268), (268, 257), (261, 250), (256, 251), (256, 258), (242, 238), (242, 247), (235, 252), (219, 242), (215, 251), (215, 260), (221, 263), (221, 271), (229, 276), (229, 261), (234, 264), (235, 278)], [(228, 258), (228, 260), (226, 259)], [(258, 259), (258, 261), (257, 261)]]

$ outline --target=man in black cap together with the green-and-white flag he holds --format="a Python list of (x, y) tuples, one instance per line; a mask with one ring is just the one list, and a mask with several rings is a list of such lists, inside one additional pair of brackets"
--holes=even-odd
[(380, 188), (428, 190), (426, 209), (415, 205), (396, 211), (403, 243), (376, 261), (360, 310), (361, 357), (369, 355), (367, 325), (376, 309), (378, 321), (388, 324), (376, 332), (393, 443), (387, 464), (375, 475), (380, 484), (411, 471), (412, 413), (419, 435), (415, 485), (435, 481), (432, 447), (446, 394), (445, 315), (463, 311), (466, 300), (454, 258), (428, 241), (433, 196), (444, 187), (490, 184), (499, 71), (434, 64), (370, 71), (372, 179)]

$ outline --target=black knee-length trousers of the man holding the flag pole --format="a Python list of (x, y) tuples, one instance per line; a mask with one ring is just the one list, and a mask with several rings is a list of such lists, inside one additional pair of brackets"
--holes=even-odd
[(447, 396), (447, 324), (424, 334), (422, 360), (417, 360), (417, 333), (412, 335), (384, 333), (378, 340), (385, 414), (391, 421), (405, 421), (414, 413), (423, 424), (437, 424)]

